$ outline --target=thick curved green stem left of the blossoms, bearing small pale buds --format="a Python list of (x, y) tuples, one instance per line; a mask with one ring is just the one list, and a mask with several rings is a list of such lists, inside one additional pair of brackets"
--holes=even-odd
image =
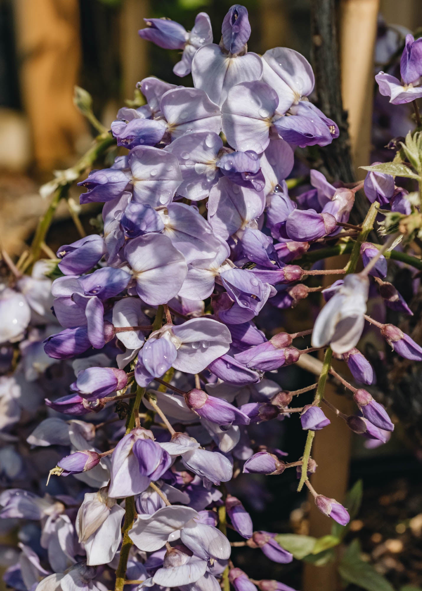
[[(70, 176), (73, 178), (79, 177), (84, 170), (92, 166), (97, 158), (102, 155), (110, 146), (115, 144), (115, 142), (116, 139), (108, 132), (106, 134), (99, 135), (96, 138), (95, 144), (92, 146), (92, 148), (90, 148), (72, 168), (68, 169), (68, 171), (72, 171), (72, 173), (76, 174), (76, 176), (75, 174)], [(73, 180), (66, 180), (66, 173), (68, 171), (64, 171), (63, 180), (61, 180), (59, 187), (57, 187), (57, 189), (54, 191), (46, 213), (44, 213), (44, 215), (41, 216), (40, 220), (38, 221), (38, 226), (35, 230), (33, 243), (31, 245), (31, 252), (34, 261), (36, 261), (40, 256), (41, 244), (46, 240), (47, 232), (51, 226), (51, 222), (53, 222), (56, 209), (59, 206), (61, 199), (67, 196), (69, 187), (73, 183)]]

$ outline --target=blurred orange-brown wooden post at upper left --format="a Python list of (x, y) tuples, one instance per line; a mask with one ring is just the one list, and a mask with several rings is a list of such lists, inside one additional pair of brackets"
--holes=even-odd
[(22, 101), (30, 119), (35, 163), (66, 165), (86, 130), (73, 106), (80, 66), (77, 0), (15, 0)]

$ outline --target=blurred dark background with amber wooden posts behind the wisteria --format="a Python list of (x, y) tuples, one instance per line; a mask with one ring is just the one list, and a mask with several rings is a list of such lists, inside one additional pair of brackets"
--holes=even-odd
[[(309, 59), (312, 1), (244, 0), (252, 24), (249, 48), (264, 53), (267, 48), (287, 46)], [(38, 193), (40, 184), (52, 177), (53, 170), (72, 165), (92, 141), (94, 130), (73, 105), (74, 85), (90, 92), (95, 115), (109, 126), (125, 100), (134, 98), (138, 80), (154, 74), (167, 82), (180, 83), (172, 72), (177, 52), (162, 50), (139, 38), (142, 18), (169, 17), (189, 30), (197, 12), (206, 11), (218, 43), (220, 23), (231, 4), (230, 0), (0, 0), (2, 248), (12, 255), (22, 252), (37, 217), (46, 208), (46, 201)], [(339, 4), (342, 80), (332, 83), (342, 85), (359, 177), (358, 165), (368, 164), (374, 148), (372, 76), (377, 15), (382, 14), (387, 23), (415, 30), (422, 26), (422, 2), (341, 0)], [(191, 80), (184, 79), (183, 84), (190, 86)], [(76, 202), (78, 194), (75, 189)], [(95, 232), (89, 225), (98, 212), (95, 207), (81, 212), (88, 233)], [(69, 210), (63, 204), (48, 243), (54, 251), (55, 246), (77, 238)], [(306, 306), (299, 306), (296, 316), (290, 314), (290, 320), (279, 322), (288, 330), (301, 330), (310, 326), (310, 313)], [(274, 317), (268, 319), (268, 327), (271, 323)], [(382, 362), (377, 369), (382, 374)], [(292, 389), (311, 383), (310, 376), (298, 369), (286, 371), (284, 379), (285, 387)], [(418, 384), (417, 391), (409, 392), (409, 396), (422, 400), (422, 386)], [(348, 404), (336, 392), (332, 396), (339, 407)], [(420, 415), (416, 421), (420, 421)], [(386, 446), (368, 450), (361, 440), (355, 441), (345, 433), (343, 426), (332, 424), (324, 430), (324, 436), (317, 438), (316, 445), (322, 493), (341, 501), (346, 489), (362, 479), (362, 509), (352, 522), (349, 538), (359, 538), (363, 556), (386, 574), (396, 589), (402, 582), (422, 584), (422, 448), (418, 429), (420, 424), (413, 426), (409, 436), (398, 427)], [(277, 433), (270, 436), (276, 440), (279, 437)], [(286, 421), (280, 444), (292, 460), (300, 456), (303, 443), (297, 421)], [(269, 479), (267, 491), (258, 481), (249, 479), (249, 509), (255, 525), (268, 531), (329, 534), (329, 520), (311, 509), (306, 495), (298, 498), (294, 492), (294, 474), (280, 478)], [(239, 486), (245, 486), (245, 481), (239, 480)], [(236, 554), (236, 564), (247, 565), (248, 574), (257, 579), (280, 578), (277, 566), (271, 573), (264, 573), (267, 563), (253, 563), (254, 557), (252, 551), (249, 554), (242, 550)], [(338, 588), (330, 564), (307, 564), (303, 581), (301, 569), (301, 564), (294, 561), (283, 567), (280, 580), (303, 591)], [(348, 590), (353, 588), (358, 589), (349, 586)]]

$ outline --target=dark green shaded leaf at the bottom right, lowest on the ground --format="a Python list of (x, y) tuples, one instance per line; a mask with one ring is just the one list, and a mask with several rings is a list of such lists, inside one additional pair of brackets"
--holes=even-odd
[(353, 583), (366, 591), (394, 591), (385, 577), (361, 558), (359, 540), (353, 540), (339, 564), (339, 573), (346, 583)]

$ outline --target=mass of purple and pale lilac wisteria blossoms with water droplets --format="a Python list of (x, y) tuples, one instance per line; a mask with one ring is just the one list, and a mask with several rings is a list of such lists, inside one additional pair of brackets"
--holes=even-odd
[[(398, 355), (422, 361), (410, 336), (366, 314), (375, 290), (396, 313), (412, 313), (385, 279), (388, 259), (420, 265), (402, 249), (419, 204), (394, 177), (420, 178), (421, 140), (410, 133), (408, 161), (375, 163), (365, 183), (330, 183), (311, 170), (310, 186), (291, 197), (296, 148), (339, 135), (308, 99), (307, 60), (281, 47), (248, 52), (241, 5), (226, 14), (219, 44), (204, 13), (190, 32), (164, 19), (145, 24), (141, 37), (183, 51), (174, 73), (191, 72), (194, 87), (148, 77), (138, 85), (145, 104), (119, 110), (111, 133), (121, 155), (79, 183), (82, 204), (104, 203), (102, 232), (61, 246), (57, 261), (37, 262), (31, 277), (3, 257), (12, 278), (0, 299), (0, 517), (20, 540), (5, 580), (18, 591), (218, 591), (220, 583), (292, 591), (252, 582), (231, 561), (228, 525), (230, 538), (241, 538), (235, 544), (275, 563), (293, 560), (275, 532), (254, 530), (233, 481), (294, 467), (298, 490), (306, 485), (324, 515), (348, 523), (347, 509), (310, 483), (311, 443), (330, 424), (324, 410), (370, 446), (394, 429), (364, 388), (375, 382), (357, 348), (365, 323)], [(392, 102), (416, 96), (419, 41), (406, 38), (407, 86)], [(393, 84), (385, 76), (376, 77), (382, 93)], [(362, 186), (370, 207), (355, 226), (349, 214)], [(391, 235), (382, 245), (368, 242), (377, 216)], [(327, 245), (350, 253), (345, 268), (311, 267)], [(330, 274), (343, 278), (306, 283)], [(265, 334), (266, 310), (291, 309), (313, 291), (326, 301), (313, 328)], [(307, 335), (311, 346), (300, 348)], [(304, 366), (315, 351), (324, 352), (317, 384), (283, 389), (280, 368)], [(331, 367), (333, 356), (353, 383)], [(354, 414), (324, 399), (328, 378), (351, 392)], [(311, 404), (291, 405), (313, 390)], [(268, 423), (294, 413), (308, 439), (303, 457), (286, 462)], [(32, 486), (46, 470), (48, 489)]]

